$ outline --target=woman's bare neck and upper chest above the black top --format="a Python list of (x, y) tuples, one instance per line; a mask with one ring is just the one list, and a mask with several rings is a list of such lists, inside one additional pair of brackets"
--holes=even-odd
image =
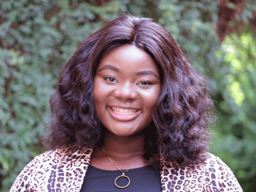
[[(105, 170), (131, 169), (148, 165), (143, 158), (144, 154), (144, 139), (143, 133), (138, 133), (133, 136), (119, 137), (109, 132), (103, 133), (104, 142), (101, 146), (96, 147), (91, 155), (90, 164)], [(115, 165), (109, 160), (106, 154), (114, 161)], [(134, 163), (134, 164), (133, 164)]]

